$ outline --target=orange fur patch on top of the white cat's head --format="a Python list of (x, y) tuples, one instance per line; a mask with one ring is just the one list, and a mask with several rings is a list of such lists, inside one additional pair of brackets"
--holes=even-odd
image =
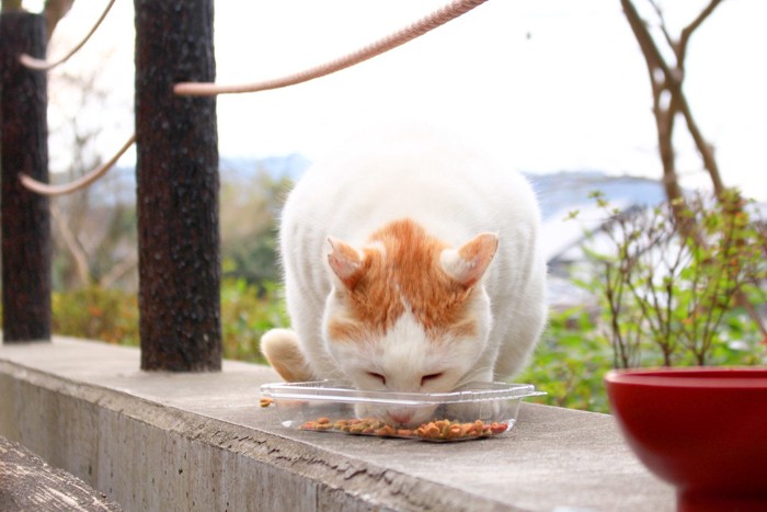
[[(461, 282), (445, 271), (440, 257), (448, 249), (446, 243), (410, 219), (385, 226), (369, 242), (357, 252), (331, 241), (329, 261), (344, 285), (339, 293), (346, 308), (346, 314), (330, 322), (333, 339), (363, 341), (382, 335), (407, 310), (431, 339), (476, 334), (466, 307), (476, 280)], [(465, 246), (459, 255), (471, 260), (481, 250)]]

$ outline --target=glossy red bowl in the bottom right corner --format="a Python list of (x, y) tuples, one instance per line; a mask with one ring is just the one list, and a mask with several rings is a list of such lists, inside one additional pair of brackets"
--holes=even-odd
[(654, 368), (605, 376), (637, 456), (683, 511), (767, 511), (767, 368)]

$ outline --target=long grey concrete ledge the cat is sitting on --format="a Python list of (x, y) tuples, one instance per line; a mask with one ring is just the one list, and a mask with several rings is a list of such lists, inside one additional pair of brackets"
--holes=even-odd
[(271, 368), (144, 373), (139, 352), (0, 346), (0, 435), (125, 510), (674, 510), (613, 418), (524, 403), (504, 439), (456, 444), (283, 428)]

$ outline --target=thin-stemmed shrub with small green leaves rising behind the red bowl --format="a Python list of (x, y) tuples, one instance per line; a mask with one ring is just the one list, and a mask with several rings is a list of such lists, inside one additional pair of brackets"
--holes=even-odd
[(615, 367), (764, 361), (758, 315), (744, 307), (765, 304), (767, 242), (737, 193), (628, 213), (596, 200), (610, 247), (589, 252), (596, 272), (582, 284), (600, 300)]

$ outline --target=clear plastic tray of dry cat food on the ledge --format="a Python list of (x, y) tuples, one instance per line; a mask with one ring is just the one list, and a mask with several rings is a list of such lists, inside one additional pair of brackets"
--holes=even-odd
[(530, 384), (472, 383), (450, 392), (360, 391), (340, 382), (261, 386), (285, 426), (346, 434), (466, 441), (507, 432)]

